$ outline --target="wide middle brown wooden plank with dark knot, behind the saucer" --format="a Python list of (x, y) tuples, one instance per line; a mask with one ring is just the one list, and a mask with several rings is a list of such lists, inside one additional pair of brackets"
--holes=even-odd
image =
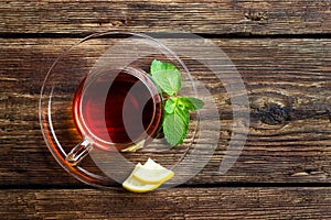
[[(245, 81), (252, 125), (237, 163), (226, 175), (220, 175), (232, 132), (231, 103), (214, 76), (193, 69), (192, 74), (216, 100), (222, 130), (213, 158), (188, 184), (330, 183), (331, 41), (213, 41), (233, 59)], [(46, 69), (74, 42), (75, 38), (0, 40), (0, 185), (77, 184), (49, 153), (38, 118)], [(97, 53), (98, 48), (90, 45), (86, 50)], [(71, 62), (84, 63), (79, 61), (84, 53), (81, 51)], [(83, 65), (87, 64), (90, 63)], [(77, 136), (72, 144), (75, 141)], [(173, 161), (172, 154), (159, 156)]]

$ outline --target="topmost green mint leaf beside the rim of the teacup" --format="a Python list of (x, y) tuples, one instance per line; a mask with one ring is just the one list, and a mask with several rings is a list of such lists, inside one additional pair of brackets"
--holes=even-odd
[(172, 64), (154, 59), (150, 66), (153, 81), (169, 96), (181, 89), (181, 74)]

